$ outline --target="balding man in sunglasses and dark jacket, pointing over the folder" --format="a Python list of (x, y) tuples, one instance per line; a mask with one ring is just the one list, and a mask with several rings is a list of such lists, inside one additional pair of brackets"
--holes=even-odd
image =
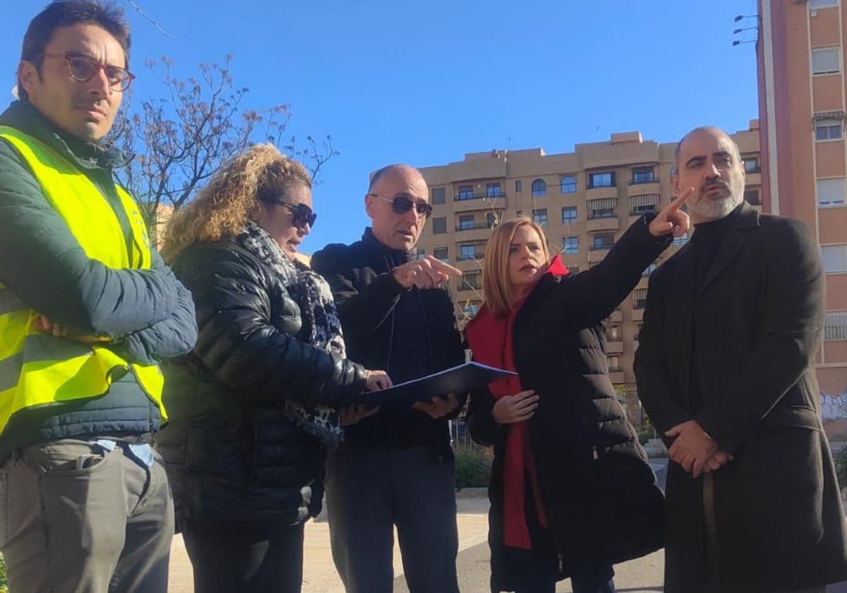
[[(417, 169), (379, 169), (365, 195), (362, 241), (312, 258), (329, 281), (349, 356), (396, 383), (463, 362), (453, 303), (442, 286), (462, 274), (414, 247), (432, 206)], [(404, 413), (377, 413), (329, 452), (327, 511), (335, 567), (347, 593), (390, 593), (396, 526), (412, 593), (457, 593), (454, 463), (447, 418), (463, 396), (433, 394)]]

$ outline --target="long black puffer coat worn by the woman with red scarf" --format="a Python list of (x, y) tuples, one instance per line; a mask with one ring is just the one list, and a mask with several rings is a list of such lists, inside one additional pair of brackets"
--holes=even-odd
[[(594, 268), (546, 274), (513, 324), (521, 388), (540, 395), (529, 435), (561, 578), (576, 562), (623, 562), (662, 546), (662, 492), (609, 380), (603, 323), (670, 242), (650, 236), (648, 220), (636, 221)], [(488, 389), (475, 391), (468, 428), (474, 441), (494, 446), (491, 582), (493, 589), (500, 587), (494, 590), (511, 590), (515, 584), (502, 544), (509, 429), (495, 424), (494, 403)]]

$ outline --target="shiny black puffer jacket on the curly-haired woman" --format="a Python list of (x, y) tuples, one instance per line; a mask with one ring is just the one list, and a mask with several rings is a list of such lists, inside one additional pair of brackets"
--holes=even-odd
[(200, 330), (164, 369), (170, 424), (156, 435), (178, 529), (305, 521), (320, 511), (324, 451), (285, 417), (285, 398), (346, 405), (364, 389), (363, 367), (299, 340), (300, 308), (235, 241), (192, 245), (173, 269)]

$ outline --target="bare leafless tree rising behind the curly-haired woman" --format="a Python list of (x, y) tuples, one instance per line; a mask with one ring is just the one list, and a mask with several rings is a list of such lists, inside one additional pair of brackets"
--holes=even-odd
[(270, 142), (302, 161), (317, 183), (318, 174), (339, 152), (331, 136), (318, 142), (307, 136), (298, 148), (294, 137), (285, 144), (291, 120), (287, 104), (245, 108), (246, 87), (235, 87), (232, 57), (221, 64), (200, 64), (197, 77), (176, 78), (173, 62), (147, 60), (147, 68), (163, 85), (163, 97), (141, 101), (137, 110), (122, 111), (110, 140), (136, 158), (120, 181), (141, 202), (152, 236), (167, 213), (185, 206), (208, 178), (253, 142)]

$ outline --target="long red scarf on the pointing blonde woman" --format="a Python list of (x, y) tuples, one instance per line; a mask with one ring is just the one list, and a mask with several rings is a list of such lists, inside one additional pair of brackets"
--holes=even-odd
[[(568, 271), (562, 264), (562, 259), (556, 256), (547, 266), (545, 274), (564, 276), (568, 274)], [(468, 339), (468, 346), (473, 351), (474, 360), (492, 367), (518, 370), (515, 368), (512, 353), (512, 324), (522, 306), (523, 302), (520, 302), (515, 311), (501, 316), (491, 314), (485, 305), (479, 309), (479, 313), (465, 329), (465, 336)], [(495, 399), (513, 396), (518, 391), (523, 391), (518, 376), (493, 381), (488, 387)], [(547, 526), (547, 515), (541, 501), (538, 474), (529, 446), (529, 425), (526, 422), (507, 424), (503, 457), (503, 544), (530, 550), (532, 543), (529, 539), (524, 501), (527, 476), (529, 476), (538, 520), (543, 527)]]

